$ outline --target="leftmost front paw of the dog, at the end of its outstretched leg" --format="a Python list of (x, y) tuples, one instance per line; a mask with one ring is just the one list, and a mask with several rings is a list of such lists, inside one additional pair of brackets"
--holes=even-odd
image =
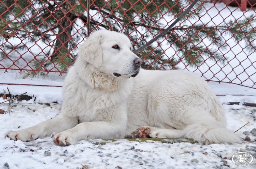
[(9, 137), (12, 140), (22, 140), (23, 142), (29, 142), (37, 139), (35, 133), (29, 130), (9, 131), (5, 134), (5, 137)]

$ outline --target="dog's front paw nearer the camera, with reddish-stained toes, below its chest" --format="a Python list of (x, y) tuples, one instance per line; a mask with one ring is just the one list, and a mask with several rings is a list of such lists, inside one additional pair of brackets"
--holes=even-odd
[(71, 136), (69, 132), (57, 133), (53, 136), (53, 142), (58, 146), (75, 145), (76, 140)]

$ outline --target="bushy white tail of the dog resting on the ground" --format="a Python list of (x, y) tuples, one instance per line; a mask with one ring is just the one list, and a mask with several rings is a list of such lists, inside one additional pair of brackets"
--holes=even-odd
[(181, 134), (199, 142), (209, 140), (211, 143), (241, 143), (241, 138), (223, 125), (196, 123), (186, 126)]

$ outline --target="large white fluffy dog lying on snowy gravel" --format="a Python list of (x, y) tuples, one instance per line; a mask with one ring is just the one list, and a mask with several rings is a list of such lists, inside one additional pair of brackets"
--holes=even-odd
[(91, 34), (68, 71), (61, 113), (6, 136), (26, 142), (56, 132), (57, 145), (131, 136), (240, 142), (226, 129), (225, 111), (207, 82), (188, 71), (140, 70), (141, 63), (125, 35)]

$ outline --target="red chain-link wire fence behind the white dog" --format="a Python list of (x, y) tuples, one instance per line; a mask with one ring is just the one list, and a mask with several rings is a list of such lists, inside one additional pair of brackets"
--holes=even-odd
[[(234, 2), (235, 7), (227, 5)], [(242, 2), (199, 0), (170, 31), (137, 53), (142, 67), (186, 69), (207, 81), (256, 89), (256, 3), (245, 1), (245, 8)], [(88, 18), (86, 0), (2, 0), (0, 70), (17, 70), (24, 77), (65, 73), (87, 30), (124, 33), (136, 50), (165, 30), (190, 3), (91, 0)]]

